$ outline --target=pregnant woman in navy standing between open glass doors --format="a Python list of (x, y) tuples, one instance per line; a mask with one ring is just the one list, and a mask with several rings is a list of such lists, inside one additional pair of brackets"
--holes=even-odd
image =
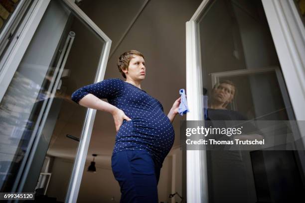
[(162, 104), (141, 89), (146, 67), (140, 52), (123, 53), (117, 65), (126, 81), (108, 79), (82, 87), (72, 100), (113, 115), (117, 135), (111, 166), (121, 187), (120, 203), (157, 203), (160, 169), (174, 142), (171, 123), (181, 101), (166, 116)]

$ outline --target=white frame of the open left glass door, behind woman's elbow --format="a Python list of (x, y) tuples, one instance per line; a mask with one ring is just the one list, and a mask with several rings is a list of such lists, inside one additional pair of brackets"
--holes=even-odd
[[(94, 83), (102, 81), (104, 79), (106, 65), (110, 53), (110, 47), (112, 41), (110, 38), (74, 3), (74, 0), (62, 0), (74, 13), (82, 19), (99, 37), (105, 41), (103, 48), (103, 54), (100, 57), (96, 77)], [(0, 75), (0, 101), (2, 100), (6, 89), (8, 88), (10, 81), (13, 78), (15, 71), (17, 70), (19, 63), (26, 49), (43, 17), (44, 12), (49, 4), (50, 0), (36, 0), (35, 5), (31, 12), (28, 12), (28, 17), (24, 23), (22, 29), (17, 31), (16, 43), (11, 44), (10, 53), (5, 61), (4, 72), (2, 71)], [(69, 188), (66, 195), (66, 203), (77, 202), (77, 196), (80, 188), (80, 183), (83, 175), (83, 170), (85, 167), (87, 152), (89, 148), (93, 123), (95, 119), (96, 110), (88, 108), (84, 125), (82, 128), (80, 143), (78, 146), (78, 151), (76, 154), (72, 176), (70, 178)]]

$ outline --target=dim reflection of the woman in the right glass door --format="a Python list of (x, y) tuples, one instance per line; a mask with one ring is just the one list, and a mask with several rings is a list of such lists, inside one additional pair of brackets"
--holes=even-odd
[[(238, 111), (226, 108), (234, 99), (236, 91), (235, 85), (228, 80), (220, 81), (219, 85), (213, 87), (208, 103), (207, 120), (209, 121), (207, 123), (216, 128), (228, 128), (232, 124), (238, 124), (238, 120), (247, 120)], [(243, 127), (243, 133), (258, 131), (250, 122), (243, 122)], [(241, 134), (232, 137), (222, 135), (217, 138), (221, 140), (260, 140), (263, 139), (263, 136), (259, 134)], [(248, 178), (252, 176), (252, 170), (249, 170), (249, 151), (224, 151), (224, 146), (213, 146), (215, 150), (210, 150), (206, 153), (209, 202), (251, 202), (253, 198), (251, 196), (253, 191), (251, 184), (253, 183)]]

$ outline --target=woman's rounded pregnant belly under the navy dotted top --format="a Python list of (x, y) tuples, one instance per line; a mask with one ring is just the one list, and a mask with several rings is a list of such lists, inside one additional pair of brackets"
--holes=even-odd
[(174, 129), (161, 110), (141, 112), (132, 120), (124, 120), (117, 136), (114, 151), (141, 149), (151, 152), (162, 162), (174, 142)]

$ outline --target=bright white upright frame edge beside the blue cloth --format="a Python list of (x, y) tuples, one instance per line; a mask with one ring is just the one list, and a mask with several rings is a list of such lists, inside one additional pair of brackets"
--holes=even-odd
[[(203, 0), (186, 22), (186, 93), (189, 112), (186, 120), (204, 120), (202, 100), (201, 54), (197, 40), (197, 21), (209, 0)], [(206, 151), (186, 151), (186, 196), (190, 203), (207, 203)]]

